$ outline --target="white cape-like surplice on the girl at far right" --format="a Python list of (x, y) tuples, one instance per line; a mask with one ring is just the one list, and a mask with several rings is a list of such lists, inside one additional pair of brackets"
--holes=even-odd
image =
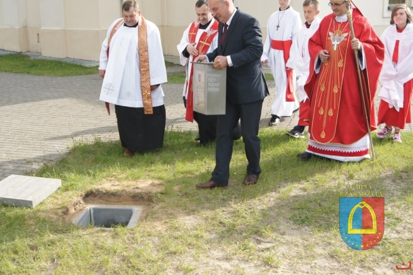
[[(403, 107), (404, 83), (413, 78), (413, 23), (397, 32), (396, 24), (390, 25), (380, 37), (384, 44), (384, 63), (381, 70), (381, 91), (379, 97), (389, 107), (399, 111)], [(399, 40), (398, 62), (393, 64), (393, 52)]]

